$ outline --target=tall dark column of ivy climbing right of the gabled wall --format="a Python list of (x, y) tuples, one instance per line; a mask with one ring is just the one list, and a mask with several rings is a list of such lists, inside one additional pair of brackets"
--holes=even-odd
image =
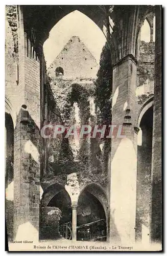
[[(103, 47), (100, 59), (100, 69), (96, 80), (96, 106), (98, 123), (111, 124), (112, 107), (112, 62), (109, 43), (106, 42)], [(98, 111), (99, 108), (99, 111)], [(103, 168), (107, 170), (109, 161), (109, 152), (111, 150), (111, 139), (104, 138), (104, 147), (101, 154)]]

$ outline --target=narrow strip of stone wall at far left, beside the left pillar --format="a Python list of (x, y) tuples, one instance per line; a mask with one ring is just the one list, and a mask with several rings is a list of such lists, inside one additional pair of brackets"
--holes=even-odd
[[(6, 6), (5, 13), (5, 97), (10, 104), (6, 109), (6, 223), (8, 241), (13, 240), (13, 137), (16, 122), (18, 94), (18, 37), (16, 6)], [(13, 108), (13, 109), (11, 109)], [(13, 127), (14, 126), (14, 127)]]

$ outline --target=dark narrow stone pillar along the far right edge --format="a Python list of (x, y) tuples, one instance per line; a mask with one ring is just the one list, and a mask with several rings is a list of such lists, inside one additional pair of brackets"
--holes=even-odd
[(161, 6), (156, 6), (155, 30), (155, 82), (152, 143), (152, 213), (151, 242), (162, 239), (162, 188), (161, 188)]

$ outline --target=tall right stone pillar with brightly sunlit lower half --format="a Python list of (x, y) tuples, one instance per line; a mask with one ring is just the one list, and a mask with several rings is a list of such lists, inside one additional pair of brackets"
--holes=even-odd
[(117, 127), (123, 125), (121, 136), (117, 134), (117, 138), (114, 136), (111, 141), (110, 242), (113, 243), (135, 242), (137, 170), (135, 90), (136, 60), (132, 54), (129, 54), (113, 67), (112, 124)]

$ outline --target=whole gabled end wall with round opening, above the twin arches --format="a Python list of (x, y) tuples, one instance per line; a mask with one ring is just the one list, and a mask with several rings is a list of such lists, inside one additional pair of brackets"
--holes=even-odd
[[(95, 124), (101, 125), (103, 121), (109, 122), (107, 115), (110, 110), (105, 107), (105, 104), (108, 104), (108, 98), (110, 100), (111, 95), (107, 95), (107, 99), (104, 97), (105, 101), (101, 99), (101, 105), (98, 105), (100, 104), (99, 99), (102, 98), (100, 87), (103, 87), (104, 83), (106, 84), (103, 93), (107, 94), (108, 92), (109, 94), (111, 92), (111, 72), (106, 70), (106, 68), (111, 69), (110, 62), (108, 62), (109, 49), (106, 46), (103, 49), (98, 71), (99, 78), (95, 80), (91, 69), (87, 70), (87, 68), (92, 66), (92, 62), (93, 65), (97, 66), (96, 61), (87, 52), (86, 47), (79, 41), (78, 37), (72, 37), (71, 40), (72, 42), (69, 40), (67, 44), (70, 47), (67, 47), (67, 50), (66, 46), (63, 48), (48, 70), (46, 122), (52, 125), (55, 123), (65, 124), (67, 127), (73, 124), (80, 127), (81, 124), (91, 123), (94, 128)], [(82, 61), (83, 49), (85, 49), (84, 56), (87, 59)], [(66, 59), (68, 51), (71, 53), (70, 66), (68, 59)], [(83, 64), (85, 61), (86, 66)], [(63, 62), (66, 65), (65, 70), (62, 66)], [(57, 66), (63, 68), (64, 74), (56, 76), (55, 69)], [(75, 67), (73, 74), (70, 73), (71, 67)], [(68, 71), (72, 76), (68, 76)], [(82, 73), (81, 76), (80, 72)], [(95, 73), (97, 74), (97, 71)], [(79, 111), (78, 116), (76, 116), (76, 108)], [(101, 115), (99, 114), (100, 111), (102, 112)], [(74, 197), (75, 194), (79, 195), (82, 186), (95, 182), (108, 193), (107, 169), (110, 141), (85, 138), (76, 142), (72, 138), (73, 136), (70, 136), (69, 139), (65, 139), (64, 136), (60, 135), (57, 139), (46, 140), (47, 165), (41, 180), (43, 188), (58, 183), (66, 189), (69, 188), (70, 196)]]

